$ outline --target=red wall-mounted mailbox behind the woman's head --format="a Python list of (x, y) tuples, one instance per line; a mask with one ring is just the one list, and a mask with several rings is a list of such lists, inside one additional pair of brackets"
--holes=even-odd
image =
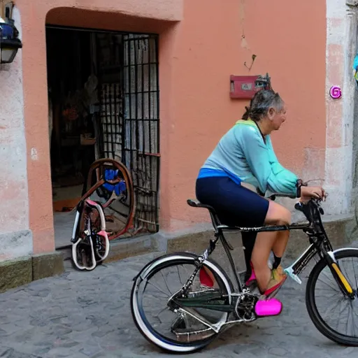
[(263, 76), (230, 76), (230, 98), (252, 99), (254, 94), (262, 88), (269, 88), (270, 78), (268, 74)]

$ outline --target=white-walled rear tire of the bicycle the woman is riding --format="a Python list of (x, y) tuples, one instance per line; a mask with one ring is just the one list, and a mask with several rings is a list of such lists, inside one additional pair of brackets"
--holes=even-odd
[[(146, 319), (143, 320), (143, 315), (141, 315), (141, 310), (138, 307), (138, 285), (142, 282), (143, 279), (150, 277), (150, 275), (154, 275), (156, 272), (160, 271), (166, 266), (173, 266), (176, 262), (178, 262), (178, 264), (194, 264), (194, 260), (196, 258), (197, 255), (194, 255), (189, 252), (178, 252), (157, 257), (157, 259), (152, 260), (152, 262), (142, 268), (141, 272), (138, 273), (138, 275), (134, 279), (134, 285), (131, 289), (131, 314), (136, 324), (136, 327), (147, 341), (152, 344), (155, 344), (158, 348), (161, 348), (166, 352), (181, 354), (196, 352), (206, 347), (206, 345), (210, 344), (219, 333), (214, 333), (213, 336), (192, 343), (178, 343), (178, 341), (173, 341), (170, 338), (163, 337), (161, 334), (156, 332), (155, 329), (153, 329), (152, 327), (148, 327), (148, 325), (145, 323)], [(231, 280), (224, 272), (224, 270), (213, 260), (206, 260), (203, 265), (210, 268), (210, 270), (215, 272), (215, 274), (220, 278), (220, 280), (223, 280), (225, 284), (225, 289), (227, 289), (227, 294), (230, 297), (229, 294), (234, 291), (234, 288)], [(226, 315), (227, 322), (229, 313), (226, 313)]]

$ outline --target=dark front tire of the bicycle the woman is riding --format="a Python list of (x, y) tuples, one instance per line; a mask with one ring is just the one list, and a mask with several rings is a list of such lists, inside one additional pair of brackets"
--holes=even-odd
[[(358, 258), (358, 249), (346, 248), (336, 250), (334, 252), (334, 256), (336, 257), (336, 259), (344, 259), (348, 257)], [(329, 325), (323, 320), (317, 310), (315, 302), (315, 285), (317, 282), (317, 278), (326, 266), (327, 262), (324, 259), (321, 259), (319, 262), (317, 262), (317, 264), (315, 264), (308, 278), (308, 282), (306, 285), (306, 308), (308, 310), (308, 315), (310, 316), (310, 319), (312, 320), (318, 331), (320, 331), (321, 334), (329, 338), (331, 341), (334, 341), (341, 345), (350, 345), (353, 347), (358, 347), (358, 337), (353, 338), (338, 333), (336, 330), (329, 327)], [(357, 294), (355, 299), (358, 299)]]

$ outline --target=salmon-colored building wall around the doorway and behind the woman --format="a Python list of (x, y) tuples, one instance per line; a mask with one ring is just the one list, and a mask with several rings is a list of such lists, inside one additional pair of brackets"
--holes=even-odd
[[(294, 11), (284, 0), (17, 0), (16, 6), (34, 252), (54, 250), (45, 22), (159, 34), (161, 229), (208, 219), (186, 199), (194, 196), (201, 164), (247, 103), (229, 98), (231, 74), (270, 74), (289, 106), (287, 123), (273, 135), (280, 161), (309, 173), (311, 150), (323, 159), (314, 170), (324, 171), (325, 1), (302, 0)], [(253, 54), (249, 72), (244, 62), (250, 66)]]

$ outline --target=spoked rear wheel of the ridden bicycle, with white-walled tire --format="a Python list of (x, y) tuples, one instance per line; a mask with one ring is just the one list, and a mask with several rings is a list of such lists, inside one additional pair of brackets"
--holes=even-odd
[[(194, 273), (196, 258), (196, 255), (183, 252), (153, 260), (138, 274), (131, 291), (131, 313), (139, 331), (148, 341), (169, 352), (194, 352), (217, 336), (217, 332), (192, 315), (168, 306), (171, 297), (180, 292)], [(213, 273), (216, 281), (213, 290), (226, 297), (225, 304), (231, 303), (232, 285), (222, 268), (209, 260), (203, 266)], [(205, 294), (208, 288), (200, 287), (197, 276), (189, 292)], [(212, 324), (227, 322), (229, 316), (229, 313), (201, 308), (189, 310)]]

